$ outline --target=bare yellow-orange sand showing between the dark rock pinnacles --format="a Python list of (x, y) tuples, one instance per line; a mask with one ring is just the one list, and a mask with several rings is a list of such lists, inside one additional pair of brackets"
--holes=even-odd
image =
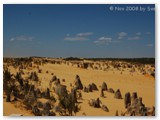
[[(16, 73), (13, 67), (9, 67), (11, 73)], [(45, 64), (40, 66), (42, 73), (38, 73), (40, 78), (41, 87), (46, 88), (49, 86), (49, 81), (52, 78), (51, 73), (54, 73), (60, 80), (65, 79), (65, 82), (61, 81), (61, 84), (67, 85), (67, 89), (70, 91), (70, 83), (74, 83), (75, 76), (79, 75), (82, 81), (83, 86), (88, 86), (91, 83), (95, 83), (99, 88), (99, 91), (93, 91), (89, 93), (82, 92), (81, 100), (81, 110), (76, 115), (87, 115), (87, 116), (114, 116), (116, 110), (119, 114), (121, 111), (126, 111), (124, 108), (124, 99), (115, 99), (114, 94), (109, 92), (104, 92), (105, 98), (100, 97), (100, 86), (103, 82), (107, 83), (108, 88), (113, 88), (115, 91), (120, 89), (122, 97), (126, 92), (137, 92), (138, 97), (143, 98), (143, 103), (147, 107), (155, 106), (155, 80), (149, 75), (142, 75), (138, 72), (130, 74), (128, 71), (123, 71), (121, 74), (120, 71), (101, 71), (101, 70), (92, 70), (92, 69), (82, 69), (72, 66), (67, 66), (65, 64)], [(33, 68), (31, 71), (37, 71), (37, 68)], [(49, 73), (46, 73), (48, 71)], [(24, 70), (25, 73), (28, 70)], [(28, 75), (27, 75), (28, 76)], [(26, 75), (24, 75), (26, 77)], [(106, 105), (109, 109), (109, 112), (103, 111), (101, 108), (93, 108), (88, 104), (88, 100), (100, 98), (102, 103)], [(5, 99), (3, 102), (3, 114), (8, 116), (10, 114), (23, 114), (23, 115), (33, 115), (31, 112), (26, 111), (25, 109), (20, 109), (16, 107), (13, 103), (6, 103)]]

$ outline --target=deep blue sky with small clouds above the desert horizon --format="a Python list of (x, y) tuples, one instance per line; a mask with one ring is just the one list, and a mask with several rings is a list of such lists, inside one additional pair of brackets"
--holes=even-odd
[[(136, 10), (127, 11), (128, 6)], [(145, 11), (140, 11), (140, 7)], [(5, 57), (155, 57), (155, 11), (151, 8), (154, 5), (6, 4), (3, 54)]]

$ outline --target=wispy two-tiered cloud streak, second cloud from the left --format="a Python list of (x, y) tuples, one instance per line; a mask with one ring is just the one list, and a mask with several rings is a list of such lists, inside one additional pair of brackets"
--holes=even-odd
[(89, 40), (89, 36), (93, 35), (93, 32), (84, 32), (84, 33), (77, 33), (74, 36), (70, 36), (70, 34), (66, 34), (64, 40), (66, 41), (85, 41)]

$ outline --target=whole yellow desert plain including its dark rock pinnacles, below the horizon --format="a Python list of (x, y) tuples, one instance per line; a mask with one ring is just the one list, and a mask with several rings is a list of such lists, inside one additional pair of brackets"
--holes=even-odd
[(4, 116), (155, 115), (154, 64), (32, 57), (3, 65)]

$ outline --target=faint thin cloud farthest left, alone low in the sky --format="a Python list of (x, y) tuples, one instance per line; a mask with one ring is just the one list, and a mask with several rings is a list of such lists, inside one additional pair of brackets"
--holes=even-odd
[(21, 36), (17, 36), (17, 37), (12, 37), (10, 39), (10, 42), (13, 42), (13, 41), (32, 41), (32, 40), (33, 40), (33, 37), (21, 35)]

